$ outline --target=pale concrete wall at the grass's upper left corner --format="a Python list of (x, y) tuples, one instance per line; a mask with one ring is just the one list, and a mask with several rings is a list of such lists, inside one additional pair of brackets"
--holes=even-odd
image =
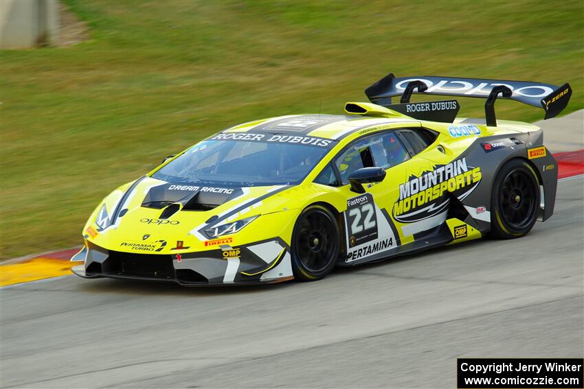
[(0, 0), (0, 48), (45, 45), (58, 35), (57, 0)]

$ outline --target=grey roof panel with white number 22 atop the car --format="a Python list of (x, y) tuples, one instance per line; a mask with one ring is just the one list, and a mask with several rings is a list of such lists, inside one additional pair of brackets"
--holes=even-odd
[(270, 132), (273, 134), (308, 134), (317, 128), (326, 126), (337, 121), (355, 119), (346, 115), (300, 115), (284, 117), (282, 119), (261, 123), (258, 126), (249, 128), (249, 132)]

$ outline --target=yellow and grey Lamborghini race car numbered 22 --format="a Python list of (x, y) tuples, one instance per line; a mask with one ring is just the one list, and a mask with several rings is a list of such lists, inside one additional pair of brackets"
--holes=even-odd
[[(486, 119), (412, 93), (485, 98)], [(390, 74), (344, 115), (223, 130), (109, 194), (73, 271), (186, 286), (313, 281), (488, 233), (521, 237), (553, 213), (557, 163), (539, 128), (497, 121), (495, 99), (547, 119), (571, 94), (568, 84)]]

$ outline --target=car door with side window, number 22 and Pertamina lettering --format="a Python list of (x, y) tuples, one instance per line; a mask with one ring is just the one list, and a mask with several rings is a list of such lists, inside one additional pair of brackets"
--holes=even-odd
[[(390, 130), (353, 141), (335, 158), (341, 190), (348, 198), (344, 212), (346, 263), (386, 257), (400, 244), (413, 241), (414, 234), (444, 222), (443, 209), (439, 217), (426, 212), (431, 204), (440, 202), (440, 196), (432, 198), (432, 193), (427, 193), (427, 182), (420, 185), (419, 177), (434, 167), (415, 154), (398, 130)], [(351, 191), (350, 174), (373, 166), (385, 169), (383, 181), (363, 185), (363, 194)]]

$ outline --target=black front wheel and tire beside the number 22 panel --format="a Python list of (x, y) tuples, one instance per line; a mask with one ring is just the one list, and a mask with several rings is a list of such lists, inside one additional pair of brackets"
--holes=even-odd
[(341, 233), (335, 215), (311, 205), (300, 213), (292, 233), (292, 271), (297, 281), (324, 278), (337, 263)]

